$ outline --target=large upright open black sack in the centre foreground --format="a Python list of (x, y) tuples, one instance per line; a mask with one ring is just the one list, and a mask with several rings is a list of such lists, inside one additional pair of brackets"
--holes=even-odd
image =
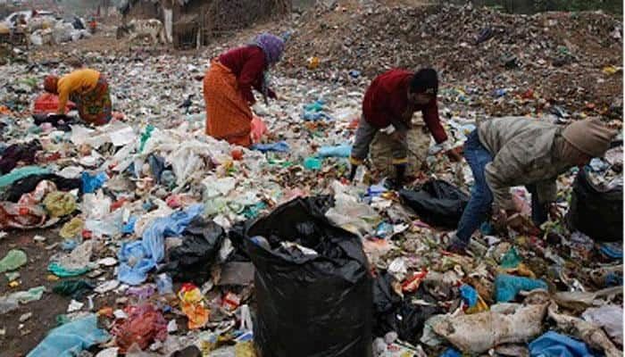
[(262, 357), (369, 357), (372, 279), (362, 243), (315, 207), (296, 198), (246, 228), (256, 270), (254, 343)]

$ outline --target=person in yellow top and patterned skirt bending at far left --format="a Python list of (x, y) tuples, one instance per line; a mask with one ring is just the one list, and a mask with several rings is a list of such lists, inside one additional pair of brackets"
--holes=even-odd
[(53, 75), (44, 79), (46, 92), (59, 95), (56, 115), (65, 115), (68, 100), (76, 104), (81, 120), (104, 125), (111, 121), (111, 90), (104, 74), (90, 69), (72, 71), (61, 78)]

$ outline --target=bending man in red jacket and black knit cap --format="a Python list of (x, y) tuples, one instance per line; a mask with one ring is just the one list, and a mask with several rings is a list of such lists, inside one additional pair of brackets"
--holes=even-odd
[[(416, 73), (390, 70), (373, 79), (362, 100), (362, 118), (356, 129), (350, 157), (350, 181), (354, 180), (358, 166), (367, 158), (374, 137), (382, 131), (394, 139), (396, 179), (392, 184), (395, 188), (404, 185), (408, 163), (406, 135), (412, 126), (412, 114), (416, 111), (423, 113), (423, 120), (437, 144), (446, 143), (447, 134), (438, 118), (437, 91), (437, 71), (431, 68)], [(443, 146), (452, 160), (461, 160), (456, 151)]]

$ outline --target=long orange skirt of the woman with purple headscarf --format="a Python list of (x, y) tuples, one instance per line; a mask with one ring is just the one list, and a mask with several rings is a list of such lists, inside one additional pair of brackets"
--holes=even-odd
[(213, 60), (204, 76), (206, 135), (230, 144), (250, 146), (252, 110), (238, 88), (237, 77)]

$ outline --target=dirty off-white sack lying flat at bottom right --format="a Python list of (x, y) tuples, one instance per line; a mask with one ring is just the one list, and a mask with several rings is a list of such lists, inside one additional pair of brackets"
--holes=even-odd
[(497, 304), (490, 311), (446, 316), (432, 328), (462, 352), (485, 353), (496, 345), (523, 343), (540, 335), (546, 307), (546, 303)]

